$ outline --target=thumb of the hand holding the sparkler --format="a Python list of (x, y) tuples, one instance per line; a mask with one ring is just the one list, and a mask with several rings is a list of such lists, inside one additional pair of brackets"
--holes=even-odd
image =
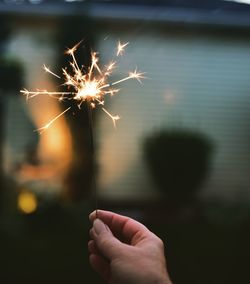
[(93, 238), (99, 251), (107, 259), (112, 260), (119, 255), (122, 243), (100, 219), (95, 219), (93, 223)]

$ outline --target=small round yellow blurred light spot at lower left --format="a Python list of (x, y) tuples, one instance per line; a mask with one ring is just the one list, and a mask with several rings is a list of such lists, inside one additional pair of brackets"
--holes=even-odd
[(17, 198), (17, 207), (24, 214), (31, 214), (37, 210), (38, 201), (34, 193), (22, 191)]

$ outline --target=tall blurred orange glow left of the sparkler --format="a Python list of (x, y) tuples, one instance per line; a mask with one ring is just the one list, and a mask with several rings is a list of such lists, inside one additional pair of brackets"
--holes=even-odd
[[(40, 81), (39, 85), (42, 84), (53, 88), (53, 85), (48, 81)], [(60, 112), (58, 102), (46, 96), (41, 96), (36, 101), (30, 101), (28, 106), (33, 122), (37, 126), (44, 124)], [(51, 127), (43, 135), (39, 135), (37, 156), (40, 161), (39, 169), (46, 166), (49, 171), (42, 178), (54, 176), (60, 180), (72, 162), (72, 137), (64, 117), (57, 120), (55, 124), (56, 127)], [(37, 169), (38, 175), (33, 178), (39, 178), (39, 169)], [(44, 170), (42, 173), (45, 173)]]

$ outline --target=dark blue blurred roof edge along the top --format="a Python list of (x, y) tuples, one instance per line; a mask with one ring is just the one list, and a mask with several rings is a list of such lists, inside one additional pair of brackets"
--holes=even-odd
[(194, 25), (250, 28), (250, 13), (234, 13), (223, 9), (201, 10), (167, 6), (129, 4), (64, 3), (64, 4), (2, 4), (0, 13), (25, 16), (83, 15), (97, 20), (151, 21), (153, 23), (183, 23)]

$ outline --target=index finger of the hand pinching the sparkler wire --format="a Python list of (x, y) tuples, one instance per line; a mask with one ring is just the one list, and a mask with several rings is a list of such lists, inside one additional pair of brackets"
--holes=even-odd
[(133, 243), (147, 237), (151, 232), (141, 223), (127, 216), (122, 216), (111, 211), (97, 210), (89, 215), (93, 222), (96, 218), (101, 219), (115, 234), (126, 238)]

